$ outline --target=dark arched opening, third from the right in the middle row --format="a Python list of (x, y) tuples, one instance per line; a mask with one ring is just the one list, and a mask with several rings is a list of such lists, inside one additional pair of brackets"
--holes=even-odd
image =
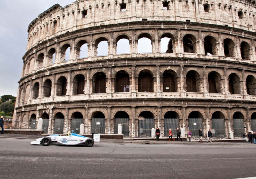
[(212, 71), (208, 74), (209, 93), (222, 93), (221, 76), (219, 73)]

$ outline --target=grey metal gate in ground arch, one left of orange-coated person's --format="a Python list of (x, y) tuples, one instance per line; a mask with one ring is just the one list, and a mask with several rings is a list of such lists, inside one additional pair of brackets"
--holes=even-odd
[(138, 137), (151, 137), (152, 128), (155, 128), (154, 119), (139, 119)]

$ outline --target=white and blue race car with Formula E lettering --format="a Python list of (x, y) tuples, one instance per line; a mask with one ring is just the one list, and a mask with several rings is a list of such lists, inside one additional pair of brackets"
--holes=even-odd
[(57, 142), (59, 145), (85, 145), (86, 147), (92, 147), (94, 140), (89, 137), (84, 137), (82, 135), (76, 134), (74, 131), (72, 133), (67, 133), (67, 135), (49, 135), (46, 137), (41, 137), (30, 142), (31, 145), (48, 146), (52, 142)]

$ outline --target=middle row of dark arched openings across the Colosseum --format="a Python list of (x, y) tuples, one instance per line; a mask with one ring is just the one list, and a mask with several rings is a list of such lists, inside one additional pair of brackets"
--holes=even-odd
[[(178, 75), (173, 70), (165, 70), (161, 80), (163, 84), (163, 92), (178, 91)], [(221, 75), (212, 71), (208, 74), (208, 92), (209, 93), (224, 93), (224, 84)], [(190, 70), (186, 74), (186, 91), (187, 92), (203, 92), (202, 77), (195, 70)], [(150, 70), (142, 70), (138, 75), (138, 92), (153, 92), (154, 91), (154, 76)], [(129, 74), (125, 70), (118, 71), (115, 74), (114, 92), (130, 92), (131, 80)], [(56, 82), (56, 96), (64, 96), (67, 93), (67, 78), (60, 76)], [(91, 93), (106, 93), (107, 78), (104, 72), (97, 72), (92, 77)], [(239, 75), (231, 73), (228, 76), (228, 89), (230, 94), (243, 94), (241, 86), (243, 85)], [(29, 86), (27, 87), (29, 88)], [(32, 99), (39, 97), (39, 82), (35, 82), (32, 87)], [(42, 86), (42, 97), (50, 97), (52, 81), (46, 79)], [(29, 89), (26, 89), (26, 91)], [(249, 95), (256, 95), (256, 79), (252, 75), (246, 77), (246, 91)], [(72, 95), (85, 94), (85, 76), (77, 74), (72, 80)], [(27, 98), (25, 99), (27, 100)]]

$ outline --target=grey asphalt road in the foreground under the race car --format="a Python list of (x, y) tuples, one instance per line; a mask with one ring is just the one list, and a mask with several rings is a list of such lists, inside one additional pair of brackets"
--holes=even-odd
[(256, 176), (256, 145), (95, 143), (30, 145), (0, 138), (0, 178), (242, 178)]

